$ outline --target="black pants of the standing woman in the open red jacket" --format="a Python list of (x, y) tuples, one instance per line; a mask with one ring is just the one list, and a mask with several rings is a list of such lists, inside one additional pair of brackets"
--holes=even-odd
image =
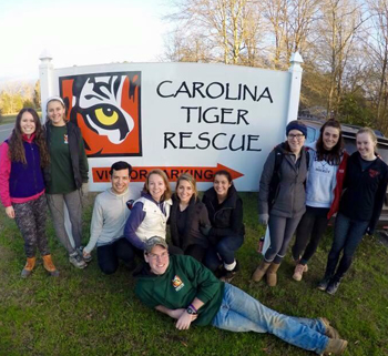
[(300, 263), (306, 264), (313, 257), (329, 222), (327, 218), (328, 212), (328, 207), (306, 206), (306, 213), (296, 230), (293, 246), (293, 258), (295, 261), (302, 256)]

